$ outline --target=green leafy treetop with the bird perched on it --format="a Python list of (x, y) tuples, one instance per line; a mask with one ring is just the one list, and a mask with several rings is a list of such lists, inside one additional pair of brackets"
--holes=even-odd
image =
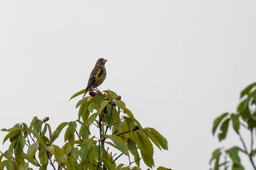
[[(75, 93), (71, 98), (84, 91)], [(154, 167), (154, 148), (167, 150), (167, 140), (154, 128), (143, 128), (121, 96), (110, 90), (89, 93), (78, 101), (78, 120), (59, 124), (52, 132), (48, 117), (30, 125), (19, 123), (6, 131), (7, 151), (1, 152), (0, 169), (140, 169), (140, 162)], [(70, 98), (70, 99), (71, 99)], [(97, 128), (98, 134), (91, 134)], [(64, 131), (64, 145), (58, 146)], [(127, 165), (118, 158), (127, 158)], [(159, 169), (166, 169), (159, 167)]]

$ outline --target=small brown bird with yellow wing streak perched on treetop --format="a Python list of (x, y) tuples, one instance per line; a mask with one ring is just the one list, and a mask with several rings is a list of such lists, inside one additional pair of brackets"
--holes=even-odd
[[(88, 80), (88, 84), (86, 86), (86, 93), (91, 88), (96, 88), (104, 82), (107, 72), (105, 69), (105, 63), (108, 60), (105, 60), (104, 58), (99, 58), (94, 66), (94, 69), (91, 71), (91, 75)], [(98, 90), (98, 89), (97, 89)], [(86, 93), (84, 93), (83, 97), (86, 96)]]

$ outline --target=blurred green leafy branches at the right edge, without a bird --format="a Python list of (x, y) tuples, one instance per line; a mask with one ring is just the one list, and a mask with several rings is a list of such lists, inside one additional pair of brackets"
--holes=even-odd
[[(256, 154), (256, 149), (253, 147), (256, 132), (256, 82), (241, 91), (241, 101), (238, 104), (236, 113), (225, 112), (214, 120), (212, 133), (218, 135), (219, 142), (226, 139), (230, 124), (240, 139), (242, 147), (235, 146), (227, 150), (224, 148), (214, 150), (210, 161), (211, 169), (244, 170), (238, 154), (241, 152), (249, 158), (253, 169), (256, 170), (253, 160)], [(241, 128), (244, 128), (250, 134), (249, 147), (241, 135)]]

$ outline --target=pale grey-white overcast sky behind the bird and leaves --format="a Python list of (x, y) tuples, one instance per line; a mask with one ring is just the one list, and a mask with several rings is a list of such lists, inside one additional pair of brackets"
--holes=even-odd
[(255, 9), (254, 0), (0, 1), (0, 128), (75, 120), (78, 98), (67, 101), (103, 57), (99, 89), (168, 140), (156, 167), (208, 169), (216, 147), (240, 144), (233, 135), (219, 144), (211, 127), (255, 81)]

